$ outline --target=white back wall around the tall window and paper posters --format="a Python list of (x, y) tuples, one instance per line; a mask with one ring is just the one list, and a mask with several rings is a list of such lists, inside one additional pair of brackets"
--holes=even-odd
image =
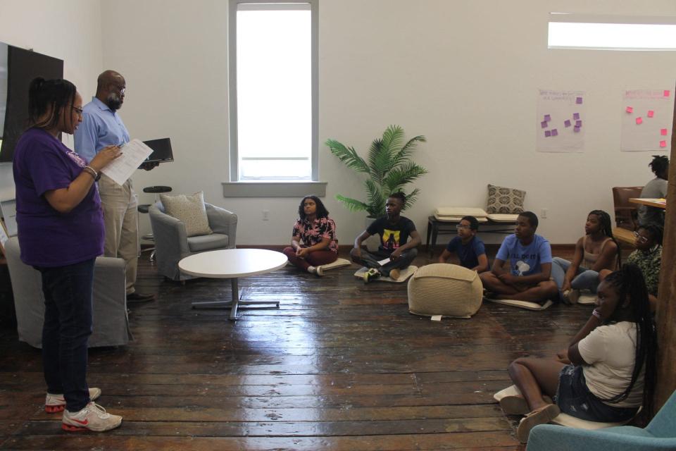
[[(22, 45), (18, 40), (44, 39), (44, 48), (30, 47), (63, 56), (67, 77), (75, 64), (91, 73), (73, 80), (78, 86), (91, 80), (89, 92), (80, 89), (85, 98), (100, 69), (119, 70), (128, 87), (120, 113), (132, 136), (172, 138), (174, 163), (134, 175), (142, 203), (152, 200), (141, 192), (148, 185), (204, 190), (208, 202), (239, 215), (239, 244), (288, 242), (299, 199), (221, 194), (228, 168), (227, 1), (104, 0), (101, 32), (91, 23), (77, 33), (80, 40), (73, 33), (73, 42), (73, 25), (88, 23), (81, 11), (58, 13), (65, 39), (56, 25), (45, 30), (47, 18), (35, 20), (37, 7), (10, 1), (11, 10), (23, 11), (18, 24), (6, 18), (8, 2), (0, 1), (0, 40)], [(33, 3), (54, 10), (48, 16), (61, 4)], [(98, 7), (77, 4), (89, 13)], [(623, 89), (673, 88), (676, 53), (549, 51), (550, 11), (676, 16), (676, 2), (320, 0), (320, 142), (332, 137), (365, 154), (389, 124), (402, 125), (409, 136), (425, 135), (417, 158), (430, 174), (418, 183), (423, 195), (407, 212), (423, 235), (434, 206), (480, 206), (487, 183), (494, 183), (527, 190), (528, 209), (549, 209), (539, 232), (555, 243), (575, 242), (589, 210), (612, 211), (612, 186), (651, 178), (647, 164), (655, 152), (619, 151), (620, 99)], [(5, 23), (14, 30), (9, 35)], [(36, 30), (27, 28), (34, 23)], [(101, 36), (97, 67), (93, 54)], [(535, 152), (539, 88), (587, 93), (583, 154)], [(364, 215), (346, 211), (333, 197), (361, 197), (360, 179), (323, 145), (320, 178), (328, 182), (325, 203), (348, 244)], [(261, 220), (263, 209), (270, 210), (270, 221)], [(142, 228), (149, 228), (146, 218)]]

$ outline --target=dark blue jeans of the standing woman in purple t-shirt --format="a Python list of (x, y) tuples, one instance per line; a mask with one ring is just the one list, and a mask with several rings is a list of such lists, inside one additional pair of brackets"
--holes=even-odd
[(92, 335), (94, 261), (42, 273), (44, 324), (42, 363), (48, 393), (63, 393), (65, 408), (77, 412), (89, 403), (87, 342)]

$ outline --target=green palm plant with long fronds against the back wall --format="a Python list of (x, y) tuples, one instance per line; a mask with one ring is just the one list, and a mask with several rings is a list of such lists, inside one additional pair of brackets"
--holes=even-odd
[(366, 211), (369, 218), (382, 216), (385, 211), (387, 197), (393, 192), (406, 194), (406, 205), (410, 207), (418, 197), (420, 190), (405, 191), (405, 186), (427, 173), (427, 170), (411, 160), (411, 155), (418, 142), (425, 142), (424, 136), (416, 136), (404, 142), (403, 128), (390, 125), (376, 138), (368, 149), (367, 159), (361, 158), (354, 147), (346, 147), (336, 140), (326, 140), (325, 144), (331, 153), (358, 173), (365, 173), (364, 187), (366, 200), (361, 201), (336, 194), (336, 199), (352, 211)]

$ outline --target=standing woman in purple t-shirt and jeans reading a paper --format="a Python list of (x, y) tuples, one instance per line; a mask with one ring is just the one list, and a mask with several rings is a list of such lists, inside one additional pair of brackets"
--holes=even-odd
[(120, 156), (115, 146), (87, 164), (58, 140), (82, 122), (82, 97), (68, 80), (32, 80), (28, 128), (16, 144), (13, 173), (21, 259), (42, 275), (45, 410), (63, 411), (66, 431), (108, 431), (122, 417), (93, 400), (87, 385), (94, 261), (103, 253), (101, 199), (94, 181)]

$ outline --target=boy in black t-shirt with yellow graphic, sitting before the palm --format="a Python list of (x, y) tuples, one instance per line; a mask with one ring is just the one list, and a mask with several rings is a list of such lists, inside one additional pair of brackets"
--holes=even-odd
[[(415, 224), (408, 218), (400, 216), (401, 208), (406, 204), (403, 192), (396, 192), (387, 198), (385, 213), (387, 216), (376, 219), (356, 240), (350, 252), (352, 261), (362, 264), (369, 269), (364, 275), (364, 282), (380, 276), (399, 278), (399, 269), (411, 264), (420, 244), (420, 235), (415, 230)], [(361, 249), (361, 243), (371, 235), (380, 235), (380, 246), (377, 252), (368, 252)], [(411, 241), (408, 241), (408, 237)], [(379, 261), (389, 257), (389, 262), (381, 265)]]

